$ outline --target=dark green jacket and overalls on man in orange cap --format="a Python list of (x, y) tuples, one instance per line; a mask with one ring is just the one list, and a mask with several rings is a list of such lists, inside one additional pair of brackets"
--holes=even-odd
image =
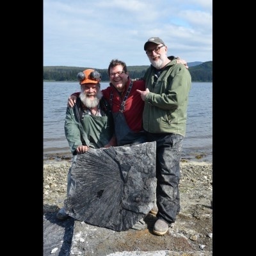
[(65, 118), (65, 136), (72, 154), (77, 154), (76, 148), (86, 145), (90, 148), (100, 148), (108, 144), (113, 136), (114, 125), (110, 106), (103, 98), (100, 100), (102, 116), (84, 113), (81, 99), (77, 97), (73, 108), (67, 107)]

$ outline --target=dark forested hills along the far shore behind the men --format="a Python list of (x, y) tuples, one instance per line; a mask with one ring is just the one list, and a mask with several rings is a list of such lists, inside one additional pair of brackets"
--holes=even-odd
[[(188, 63), (189, 66), (189, 63)], [(66, 66), (45, 66), (44, 81), (77, 81), (78, 72), (92, 67), (66, 67)], [(143, 77), (148, 66), (129, 66), (131, 78)], [(101, 74), (101, 81), (109, 81), (108, 69), (97, 69)], [(189, 67), (193, 82), (212, 82), (212, 61)]]

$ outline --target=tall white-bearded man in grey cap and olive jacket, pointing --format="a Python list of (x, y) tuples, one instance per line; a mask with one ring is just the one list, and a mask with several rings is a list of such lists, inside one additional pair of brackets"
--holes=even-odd
[(191, 75), (188, 68), (167, 56), (159, 37), (149, 38), (144, 50), (151, 65), (143, 79), (146, 90), (137, 90), (145, 102), (143, 129), (147, 141), (156, 141), (156, 202), (153, 232), (164, 235), (180, 211), (179, 180), (182, 141), (186, 132)]

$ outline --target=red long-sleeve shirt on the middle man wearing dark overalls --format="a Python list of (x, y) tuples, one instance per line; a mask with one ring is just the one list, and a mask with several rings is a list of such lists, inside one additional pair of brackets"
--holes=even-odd
[[(119, 111), (120, 106), (122, 104), (122, 100), (124, 99), (127, 88), (129, 87), (130, 79), (128, 79), (127, 84), (125, 84), (125, 90), (120, 95), (118, 90), (113, 86), (113, 84), (109, 83), (109, 86), (102, 90), (103, 97), (108, 100), (110, 99), (110, 94), (113, 92), (112, 98), (112, 111), (116, 113)], [(144, 108), (144, 101), (141, 99), (140, 93), (136, 90), (145, 91), (145, 81), (138, 80), (134, 81), (132, 84), (131, 92), (129, 93), (129, 97), (125, 101), (124, 106), (124, 116), (129, 128), (134, 132), (140, 132), (143, 130), (142, 126), (142, 113)], [(80, 92), (72, 93), (76, 97), (79, 97)], [(110, 102), (109, 102), (110, 104)]]

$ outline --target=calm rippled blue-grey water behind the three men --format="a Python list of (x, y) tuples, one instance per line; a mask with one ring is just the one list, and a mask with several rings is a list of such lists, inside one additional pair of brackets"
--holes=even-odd
[[(109, 83), (101, 83), (104, 89)], [(70, 153), (64, 122), (67, 99), (79, 92), (77, 82), (44, 82), (44, 154)], [(182, 157), (212, 161), (212, 83), (192, 83)]]

